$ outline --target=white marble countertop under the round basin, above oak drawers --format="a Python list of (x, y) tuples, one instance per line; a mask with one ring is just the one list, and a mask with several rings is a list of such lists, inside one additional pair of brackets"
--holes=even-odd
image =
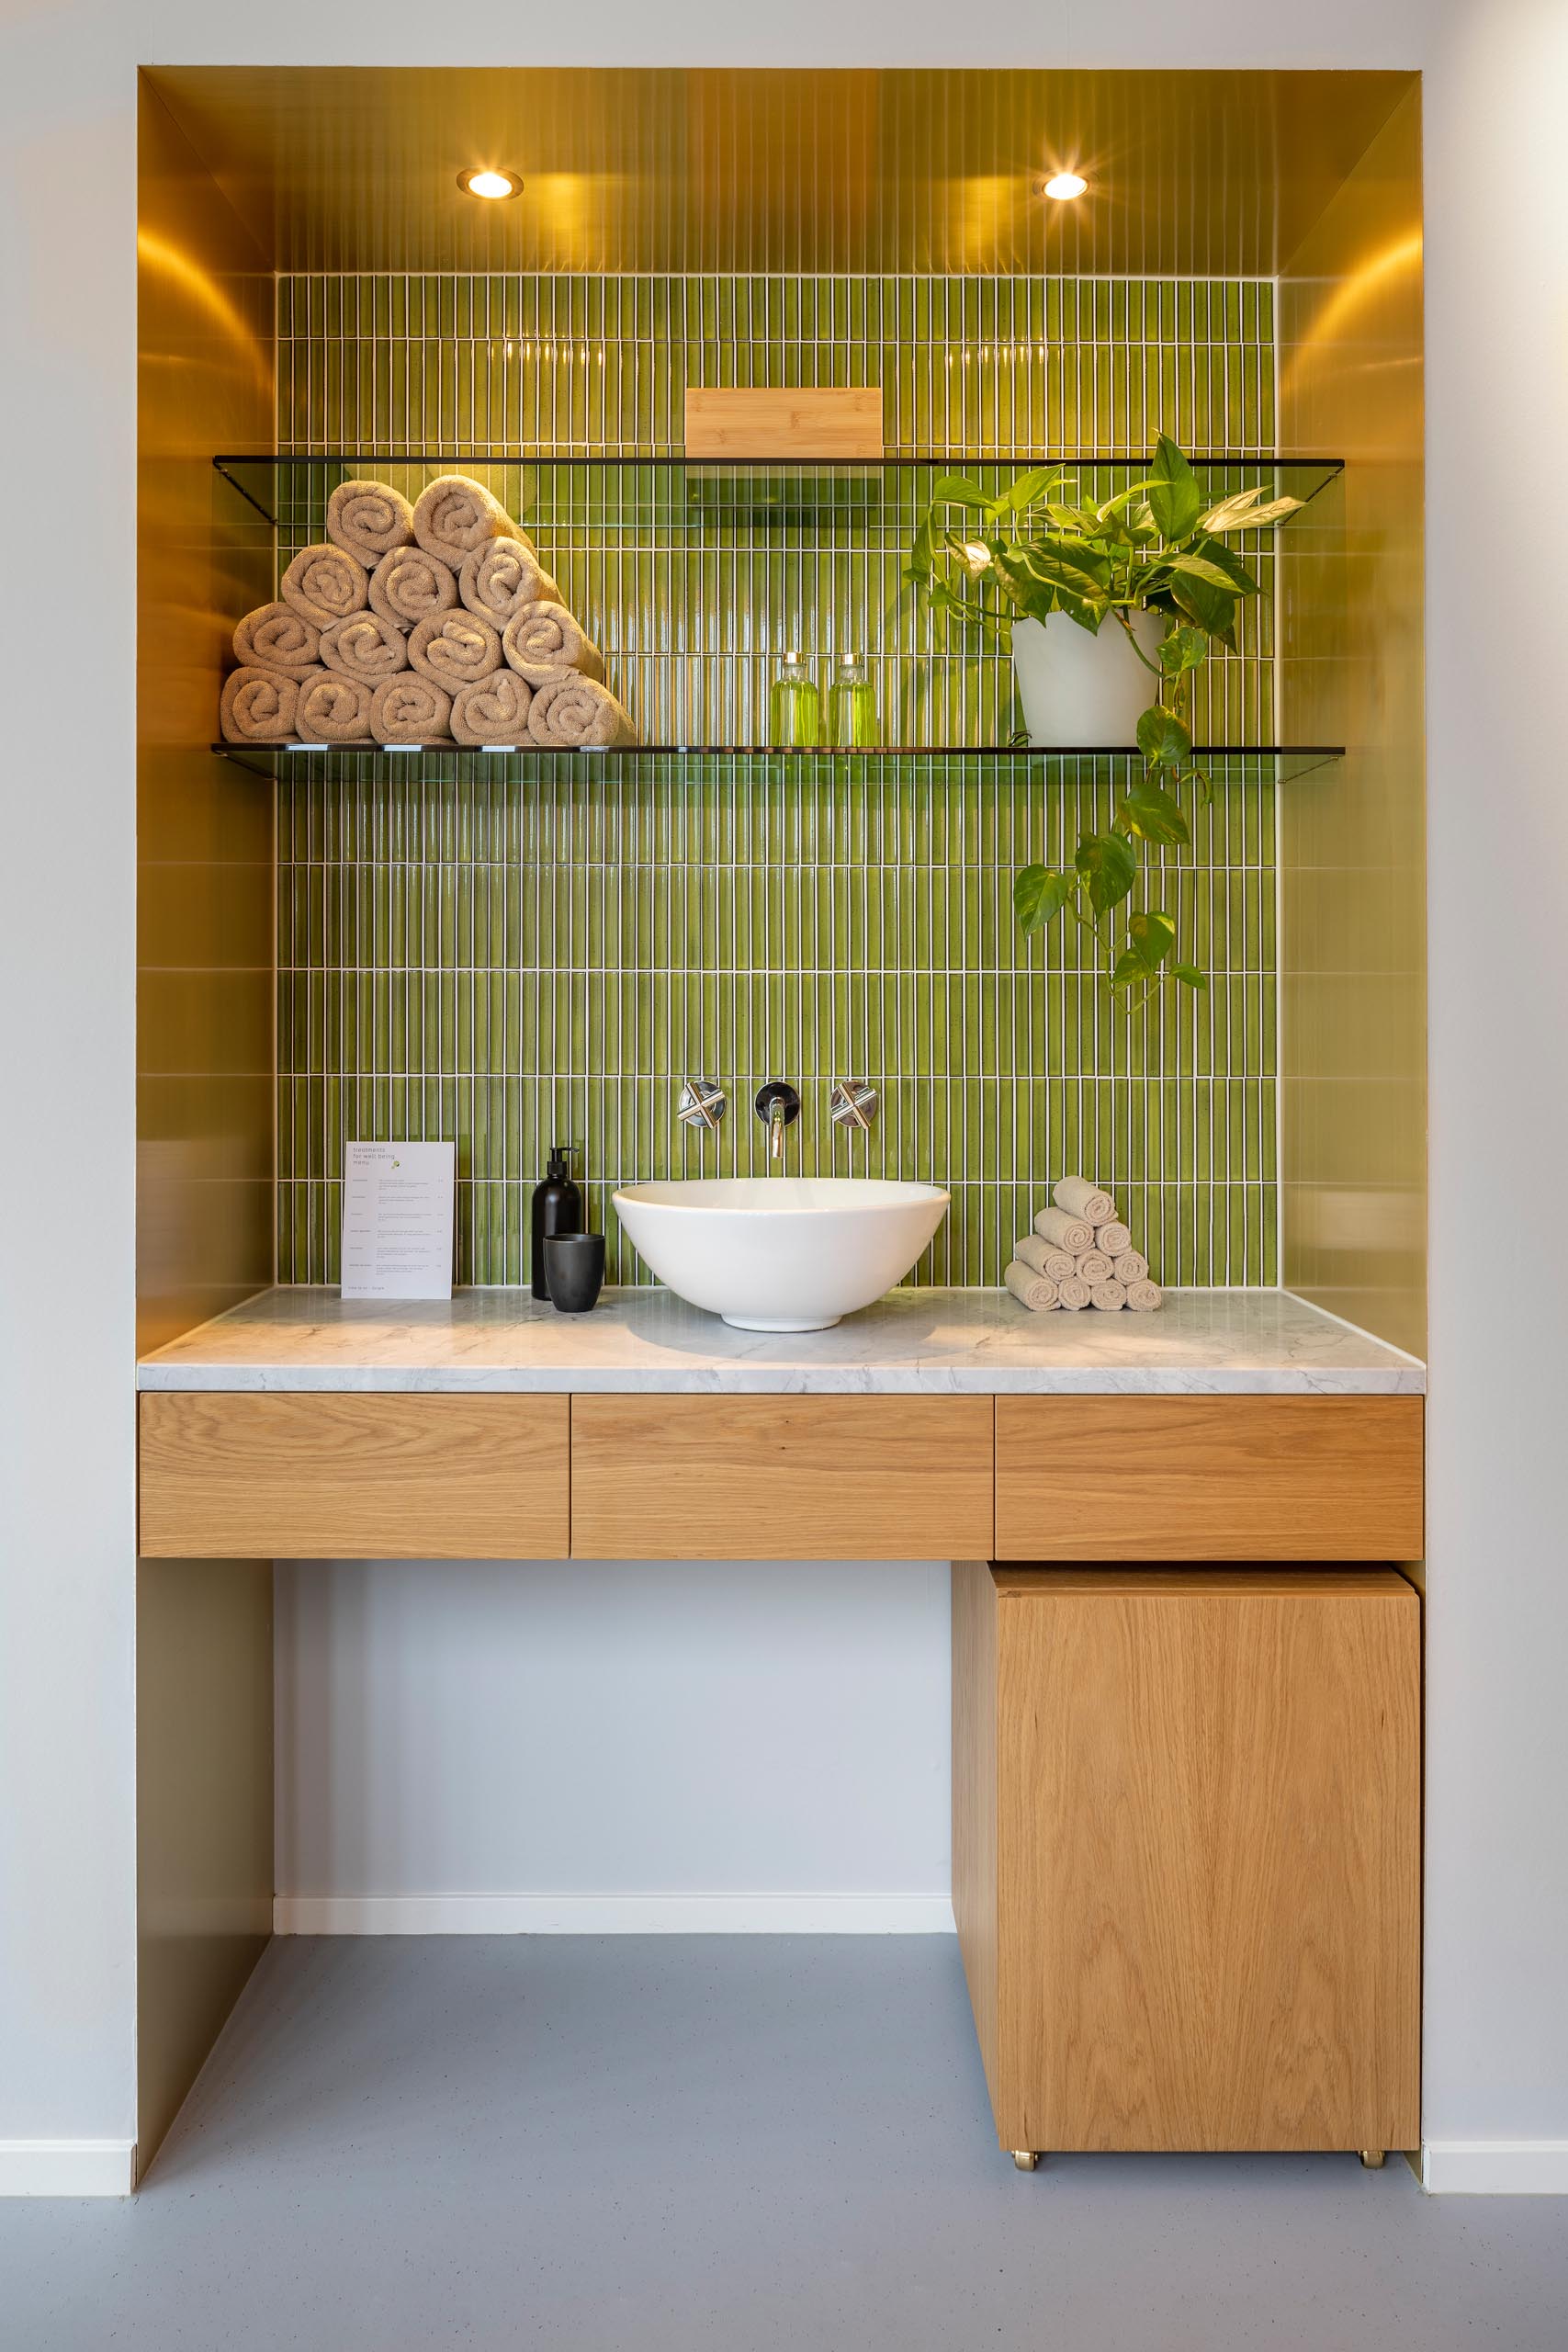
[(143, 1357), (160, 1390), (654, 1395), (1420, 1395), (1425, 1367), (1288, 1291), (1166, 1291), (1159, 1315), (1030, 1315), (1009, 1291), (889, 1291), (832, 1331), (731, 1331), (670, 1291), (557, 1315), (275, 1289)]

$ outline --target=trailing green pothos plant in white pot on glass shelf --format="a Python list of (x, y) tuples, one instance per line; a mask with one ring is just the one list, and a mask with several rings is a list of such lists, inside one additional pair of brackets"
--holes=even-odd
[[(1302, 501), (1255, 487), (1211, 503), (1168, 433), (1159, 435), (1147, 475), (1103, 506), (1065, 492), (1067, 473), (1056, 466), (1023, 473), (999, 494), (945, 475), (903, 576), (943, 623), (990, 633), (1018, 668), (1020, 637), (1039, 626), (1044, 670), (1039, 680), (1020, 680), (1025, 708), (1037, 717), (1032, 741), (1103, 748), (1124, 739), (1131, 720), (1143, 774), (1128, 783), (1110, 833), (1084, 833), (1063, 870), (1025, 866), (1013, 882), (1013, 908), (1025, 931), (1070, 913), (1110, 960), (1110, 985), (1138, 1009), (1164, 981), (1208, 985), (1197, 964), (1175, 955), (1175, 922), (1161, 908), (1131, 913), (1119, 943), (1107, 924), (1133, 896), (1143, 844), (1190, 844), (1178, 790), (1192, 786), (1206, 802), (1213, 797), (1192, 750), (1192, 680), (1213, 644), (1234, 652), (1237, 612), (1262, 593), (1229, 539), (1267, 529)], [(1088, 670), (1084, 661), (1058, 666), (1053, 687), (1051, 654), (1072, 652), (1074, 633), (1103, 640), (1105, 652)], [(1126, 673), (1112, 668), (1112, 654), (1128, 663)], [(1126, 677), (1140, 675), (1143, 691), (1128, 706)], [(1065, 734), (1051, 731), (1053, 694), (1067, 713)]]

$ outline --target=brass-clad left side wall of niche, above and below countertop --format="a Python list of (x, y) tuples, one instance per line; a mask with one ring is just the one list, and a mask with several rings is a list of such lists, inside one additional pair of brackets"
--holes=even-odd
[[(270, 442), (275, 386), (270, 256), (146, 80), (136, 242), (136, 1322), (155, 1348), (273, 1277), (273, 795), (207, 743), (235, 609), (273, 567), (212, 452)], [(146, 2171), (273, 1929), (273, 1573), (134, 1573)]]

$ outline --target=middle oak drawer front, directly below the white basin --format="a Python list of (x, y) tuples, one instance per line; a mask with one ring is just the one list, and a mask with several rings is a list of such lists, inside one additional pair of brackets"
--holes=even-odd
[(578, 1559), (990, 1555), (990, 1397), (574, 1397)]

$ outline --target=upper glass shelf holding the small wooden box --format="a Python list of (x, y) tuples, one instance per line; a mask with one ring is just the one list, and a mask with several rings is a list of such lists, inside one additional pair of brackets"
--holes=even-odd
[[(1027, 452), (936, 454), (863, 459), (689, 459), (689, 456), (571, 456), (559, 449), (487, 449), (473, 454), (334, 449), (329, 454), (284, 452), (275, 456), (226, 454), (214, 468), (266, 520), (280, 529), (308, 524), (327, 513), (339, 482), (374, 473), (407, 496), (418, 496), (437, 473), (470, 473), (501, 499), (505, 510), (534, 522), (597, 522), (602, 527), (663, 522), (703, 529), (726, 517), (788, 524), (830, 515), (903, 522), (924, 513), (940, 475), (961, 473), (983, 489), (1004, 489), (1034, 466), (1060, 466), (1086, 496), (1126, 487), (1147, 470), (1147, 452)], [(1215, 496), (1267, 480), (1276, 496), (1309, 503), (1345, 470), (1345, 459), (1281, 456), (1279, 452), (1197, 452), (1192, 466)], [(1100, 487), (1103, 485), (1103, 487)]]

